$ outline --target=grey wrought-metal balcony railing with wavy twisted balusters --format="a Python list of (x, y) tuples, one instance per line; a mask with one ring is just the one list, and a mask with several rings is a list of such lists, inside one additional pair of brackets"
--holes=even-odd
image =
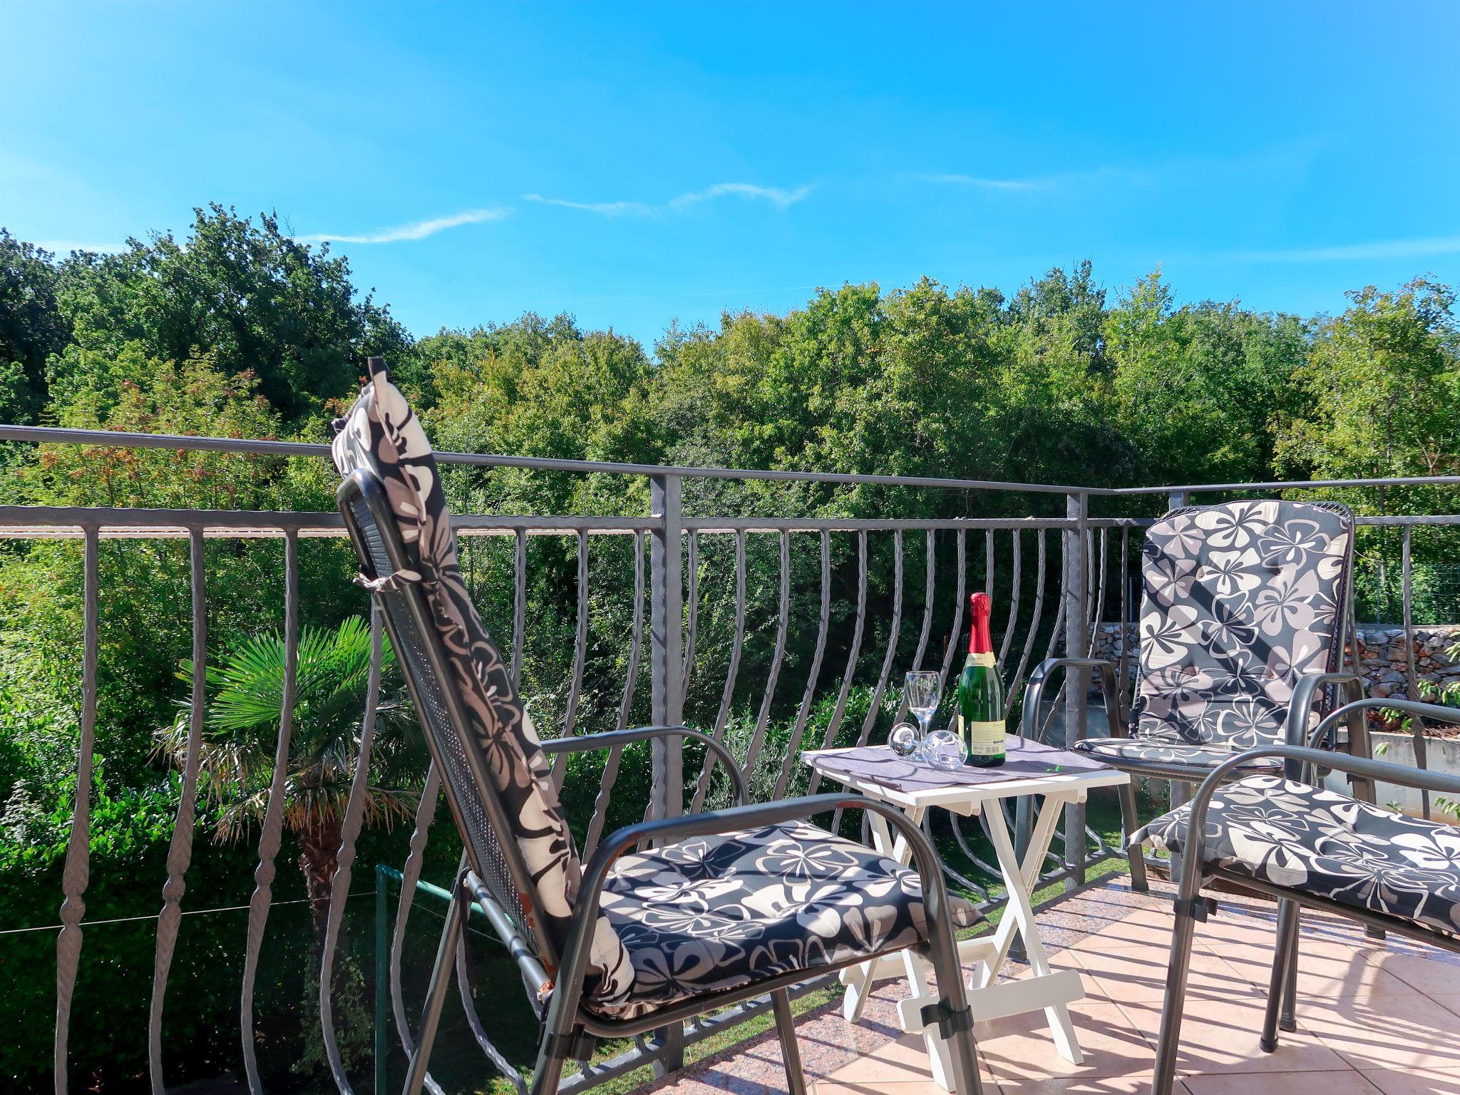
[[(0, 441), (26, 441), (48, 444), (76, 444), (105, 448), (172, 448), (206, 450), (218, 453), (277, 456), (277, 457), (327, 457), (324, 445), (274, 441), (232, 441), (220, 438), (153, 437), (139, 434), (117, 434), (102, 431), (61, 431), (36, 426), (0, 426)], [(588, 635), (591, 615), (590, 562), (597, 537), (628, 537), (632, 553), (632, 590), (610, 590), (615, 596), (632, 597), (632, 625), (629, 653), (625, 660), (622, 692), (616, 708), (616, 724), (628, 726), (634, 708), (639, 677), (648, 673), (651, 695), (651, 718), (657, 724), (679, 724), (685, 720), (686, 692), (692, 680), (723, 672), (717, 704), (707, 705), (701, 724), (717, 739), (724, 740), (737, 710), (753, 710), (749, 736), (743, 746), (743, 771), (748, 777), (762, 775), (759, 787), (764, 797), (781, 797), (791, 793), (802, 778), (800, 753), (806, 748), (829, 745), (866, 743), (886, 729), (888, 702), (895, 694), (894, 670), (936, 667), (945, 685), (953, 669), (958, 637), (965, 623), (964, 604), (967, 593), (978, 588), (1000, 593), (1007, 606), (1000, 620), (999, 639), (1000, 664), (1006, 672), (1010, 710), (1019, 702), (1022, 685), (1031, 669), (1044, 657), (1056, 653), (1089, 656), (1094, 644), (1095, 623), (1113, 619), (1121, 623), (1121, 634), (1133, 620), (1134, 606), (1130, 603), (1132, 577), (1137, 571), (1137, 558), (1143, 527), (1150, 517), (1096, 517), (1091, 514), (1095, 498), (1123, 498), (1132, 495), (1165, 493), (1171, 505), (1190, 501), (1193, 492), (1242, 492), (1311, 489), (1315, 486), (1353, 486), (1367, 483), (1425, 482), (1445, 486), (1460, 486), (1460, 477), (1431, 477), (1425, 480), (1353, 480), (1329, 483), (1259, 483), (1259, 485), (1207, 485), (1194, 488), (1159, 489), (1086, 489), (1077, 486), (1003, 483), (981, 480), (942, 480), (905, 476), (860, 476), (822, 474), (810, 472), (759, 472), (729, 469), (657, 467), (642, 464), (619, 464), (607, 461), (568, 461), (480, 454), (438, 454), (438, 461), (448, 467), (476, 469), (531, 469), (540, 472), (603, 473), (615, 476), (647, 477), (650, 483), (648, 514), (642, 517), (580, 517), (580, 515), (489, 515), (461, 514), (454, 518), (456, 531), (463, 540), (473, 537), (507, 537), (512, 543), (511, 568), (511, 677), (514, 685), (521, 680), (523, 650), (527, 634), (527, 588), (529, 588), (529, 537), (558, 537), (565, 550), (571, 549), (577, 566), (577, 588), (574, 590), (575, 620), (571, 673), (565, 702), (559, 712), (556, 730), (572, 734), (580, 730), (584, 675), (588, 660)], [(727, 517), (686, 514), (683, 485), (686, 480), (797, 480), (822, 485), (864, 485), (889, 488), (921, 488), (956, 492), (983, 492), (997, 496), (1056, 495), (1064, 498), (1064, 515), (1050, 517), (984, 517), (942, 520), (896, 520), (896, 518), (838, 518), (838, 517)], [(1454, 526), (1460, 517), (1381, 517), (1359, 518), (1365, 526), (1402, 526), (1405, 550), (1405, 626), (1409, 620), (1409, 549), (1410, 530), (1419, 524)], [(55, 1040), (54, 1040), (54, 1089), (67, 1091), (67, 1038), (70, 1012), (76, 988), (77, 964), (86, 926), (85, 896), (89, 872), (89, 802), (93, 778), (93, 750), (96, 740), (96, 689), (98, 689), (98, 620), (101, 585), (98, 581), (99, 543), (108, 539), (185, 539), (188, 542), (190, 575), (190, 619), (193, 676), (190, 683), (190, 714), (187, 749), (182, 762), (181, 799), (172, 829), (172, 841), (166, 857), (166, 877), (162, 888), (164, 904), (158, 915), (155, 968), (149, 1023), (146, 1031), (147, 1060), (152, 1091), (165, 1091), (165, 1037), (164, 1019), (168, 997), (169, 968), (177, 948), (180, 915), (187, 894), (185, 876), (193, 854), (196, 828), (196, 802), (200, 778), (200, 740), (206, 718), (206, 680), (203, 667), (207, 663), (207, 588), (204, 581), (204, 542), (210, 539), (280, 539), (283, 540), (283, 568), (280, 596), (285, 606), (286, 669), (285, 692), (280, 711), (280, 729), (276, 743), (274, 780), (270, 788), (267, 813), (258, 831), (258, 863), (254, 872), (256, 888), (250, 902), (247, 934), (244, 945), (244, 972), (239, 1013), (241, 1057), (251, 1092), (263, 1092), (263, 1082), (256, 1060), (256, 1016), (254, 978), (258, 969), (260, 950), (264, 942), (272, 886), (276, 876), (274, 860), (282, 845), (282, 780), (285, 761), (291, 746), (291, 718), (293, 685), (298, 672), (299, 644), (299, 543), (311, 537), (342, 537), (343, 524), (334, 512), (279, 512), (279, 511), (219, 511), (219, 510), (118, 510), (118, 508), (74, 508), (74, 507), (0, 507), (0, 537), (47, 539), (76, 537), (83, 553), (83, 651), (82, 651), (82, 711), (77, 742), (74, 812), (70, 841), (63, 872), (63, 901), (60, 907), (61, 929), (55, 950)], [(775, 549), (777, 566), (775, 594), (771, 619), (750, 620), (748, 615), (761, 603), (748, 591), (748, 546), (758, 537), (768, 539)], [(622, 540), (619, 540), (622, 543)], [(708, 548), (714, 545), (714, 550)], [(835, 549), (835, 550), (834, 550)], [(872, 574), (870, 568), (877, 552), (891, 553), (892, 574)], [(907, 569), (912, 552), (915, 569), (921, 571), (923, 588), (905, 588)], [(921, 564), (917, 564), (917, 553)], [(812, 626), (809, 618), (791, 613), (793, 561), (815, 561), (806, 569), (815, 575), (809, 583), (809, 600), (815, 600), (815, 637), (800, 644), (809, 648), (809, 667), (799, 689), (791, 696), (784, 695), (781, 679), (785, 670), (785, 654), (793, 631)], [(844, 561), (838, 564), (837, 561)], [(854, 577), (853, 577), (854, 575)], [(942, 583), (942, 584), (940, 584)], [(869, 596), (873, 588), (886, 590), (885, 597)], [(952, 587), (952, 596), (949, 596)], [(647, 602), (647, 613), (645, 613)], [(733, 618), (727, 644), (727, 664), (710, 666), (702, 657), (702, 629), (707, 606), (717, 606)], [(502, 606), (505, 609), (505, 606)], [(886, 616), (880, 610), (886, 610)], [(647, 616), (647, 634), (645, 634)], [(850, 635), (845, 629), (835, 631), (834, 619), (850, 619)], [(912, 620), (917, 620), (914, 625)], [(748, 631), (765, 623), (774, 632), (769, 658), (764, 663), (764, 682), (742, 679), (742, 653), (746, 648)], [(759, 626), (755, 626), (759, 631)], [(343, 902), (349, 891), (349, 876), (355, 858), (355, 847), (361, 832), (364, 810), (364, 774), (369, 768), (372, 748), (371, 729), (375, 715), (375, 701), (381, 672), (380, 623), (374, 622), (374, 656), (371, 667), (371, 689), (364, 712), (364, 729), (355, 762), (355, 780), (345, 816), (345, 845), (339, 856), (339, 872), (331, 895), (328, 936), (324, 948), (324, 974), (320, 978), (320, 1022), (328, 1051), (331, 1070), (342, 1092), (350, 1092), (350, 1083), (340, 1063), (336, 1045), (333, 1004), (330, 996), (334, 949), (339, 926), (343, 917)], [(879, 647), (880, 642), (880, 647)], [(508, 644), (504, 642), (504, 647)], [(911, 645), (911, 651), (908, 647)], [(1118, 679), (1130, 679), (1129, 644), (1120, 644)], [(869, 675), (867, 669), (873, 672)], [(1047, 712), (1041, 712), (1045, 727), (1063, 715), (1063, 726), (1070, 736), (1077, 736), (1086, 724), (1089, 672), (1072, 670), (1061, 692)], [(851, 694), (861, 679), (870, 685), (870, 704), (860, 724), (848, 723)], [(1410, 666), (1412, 692), (1416, 691), (1413, 666)], [(714, 689), (712, 689), (714, 691)], [(797, 698), (799, 692), (799, 698)], [(812, 730), (812, 714), (818, 699), (831, 699), (831, 712), (825, 726)], [(748, 702), (749, 701), (749, 702)], [(711, 717), (712, 708), (712, 717)], [(783, 743), (769, 746), (772, 718), (777, 711), (788, 723)], [(896, 708), (899, 720), (904, 708)], [(603, 727), (606, 729), (606, 727)], [(546, 730), (545, 730), (545, 736)], [(768, 753), (766, 750), (772, 752)], [(780, 756), (774, 752), (780, 750)], [(594, 797), (593, 815), (587, 822), (583, 840), (584, 854), (603, 837), (604, 822), (612, 804), (612, 790), (619, 777), (622, 755), (609, 756)], [(564, 758), (558, 758), (553, 778), (561, 785), (566, 775)], [(712, 794), (710, 762), (699, 771), (685, 771), (685, 756), (677, 739), (656, 742), (651, 756), (651, 810), (660, 815), (679, 813), (683, 809), (701, 809)], [(810, 791), (816, 791), (816, 778), (810, 780)], [(432, 816), (439, 791), (439, 777), (429, 772), (425, 777), (420, 806), (415, 816), (409, 854), (399, 873), (393, 873), (400, 885), (400, 898), (388, 961), (377, 965), (377, 978), (388, 980), (390, 997), (397, 1023), (399, 1041), (409, 1050), (410, 1031), (406, 1009), (402, 1002), (402, 942), (416, 891), (422, 883)], [(832, 825), (841, 823), (834, 818)], [(961, 828), (956, 818), (948, 819), (949, 834), (961, 853), (959, 861), (946, 863), (950, 879), (969, 892), (986, 908), (1000, 904), (990, 880), (997, 872), (978, 854), (977, 832)], [(1069, 840), (1064, 834), (1070, 834)], [(1063, 883), (1075, 889), (1085, 883), (1092, 864), (1118, 856), (1117, 848), (1107, 845), (1086, 823), (1085, 804), (1070, 806), (1061, 826), (1058, 847), (1063, 850), (1047, 864), (1041, 885)], [(383, 876), (381, 876), (383, 877)], [(381, 895), (384, 891), (380, 891)], [(380, 898), (384, 901), (384, 896)], [(458, 965), (464, 962), (464, 950)], [(377, 991), (381, 986), (377, 984)], [(384, 997), (381, 997), (384, 999)], [(504, 1063), (496, 1053), (476, 1012), (470, 996), (463, 991), (463, 1006), (486, 1060)], [(632, 1050), (612, 1061), (600, 1063), (577, 1077), (565, 1088), (585, 1088), (612, 1076), (622, 1075), (644, 1064), (654, 1064), (657, 1072), (673, 1070), (683, 1061), (686, 1042), (708, 1037), (755, 1013), (756, 1006), (736, 1009), (730, 1015), (696, 1021), (683, 1031), (669, 1031), (651, 1041), (639, 1040)], [(381, 1054), (384, 1045), (377, 1041), (377, 1069), (384, 1067)], [(383, 1076), (377, 1072), (377, 1077)], [(377, 1080), (378, 1082), (378, 1080)]]

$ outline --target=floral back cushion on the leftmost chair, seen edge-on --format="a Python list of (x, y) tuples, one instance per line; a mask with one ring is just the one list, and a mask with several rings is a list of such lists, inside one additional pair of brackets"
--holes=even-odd
[[(377, 361), (372, 358), (372, 365)], [(457, 730), (474, 739), (486, 756), (502, 809), (515, 822), (515, 832), (498, 834), (498, 840), (517, 840), (531, 875), (536, 892), (518, 895), (521, 908), (531, 930), (550, 939), (561, 953), (581, 864), (531, 720), (461, 580), (431, 442), (384, 368), (371, 377), (336, 431), (331, 453), (340, 473), (364, 467), (384, 486), (466, 708), (469, 726)], [(476, 796), (474, 788), (454, 790)], [(479, 872), (485, 866), (473, 864)], [(613, 999), (628, 993), (632, 969), (606, 920), (596, 931), (590, 965), (596, 994)]]

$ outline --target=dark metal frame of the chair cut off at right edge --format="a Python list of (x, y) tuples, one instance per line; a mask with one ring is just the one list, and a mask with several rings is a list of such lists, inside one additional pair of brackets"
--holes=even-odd
[[(1369, 708), (1391, 708), (1432, 718), (1442, 723), (1460, 721), (1460, 711), (1453, 707), (1438, 704), (1422, 704), (1413, 699), (1361, 699), (1346, 704), (1327, 715), (1314, 729), (1313, 737), (1321, 739), (1332, 730), (1340, 718), (1358, 717), (1364, 720), (1364, 711)], [(1291, 730), (1289, 730), (1291, 733)], [(1367, 742), (1367, 737), (1364, 739)], [(1260, 1045), (1266, 1053), (1278, 1048), (1278, 1031), (1296, 1029), (1296, 980), (1298, 980), (1298, 915), (1301, 908), (1315, 908), (1348, 920), (1364, 924), (1369, 934), (1393, 931), (1394, 934), (1431, 943), (1444, 950), (1460, 953), (1460, 936), (1435, 931), (1422, 924), (1403, 917), (1384, 912), (1374, 912), (1367, 908), (1356, 908), (1330, 898), (1288, 889), (1283, 886), (1251, 879), (1232, 870), (1213, 867), (1204, 863), (1206, 848), (1206, 815), (1216, 790), (1232, 778), (1241, 778), (1237, 771), (1242, 764), (1256, 758), (1283, 758), (1283, 774), (1289, 780), (1305, 780), (1317, 783), (1326, 769), (1336, 769), (1349, 774), (1350, 783), (1364, 783), (1369, 788), (1375, 783), (1384, 781), (1402, 784), (1425, 791), (1460, 794), (1460, 777), (1444, 775), (1431, 771), (1409, 768), (1405, 765), (1374, 761), (1369, 756), (1334, 755), (1326, 749), (1314, 749), (1302, 745), (1266, 745), (1237, 753), (1229, 761), (1223, 761), (1202, 781), (1196, 796), (1191, 799), (1191, 813), (1187, 818), (1187, 838), (1183, 844), (1183, 870), (1180, 888), (1175, 899), (1175, 930), (1171, 939), (1171, 959), (1167, 969), (1167, 996), (1161, 1012), (1161, 1040), (1156, 1047), (1156, 1069), (1152, 1082), (1152, 1095), (1171, 1095), (1175, 1079), (1177, 1051), (1181, 1040), (1181, 1019), (1186, 1006), (1186, 983), (1191, 962), (1191, 940), (1196, 921), (1204, 920), (1206, 905), (1202, 901), (1202, 886), (1212, 879), (1222, 879), (1225, 883), (1250, 891), (1278, 901), (1278, 937), (1273, 948), (1273, 967), (1267, 991), (1267, 1009), (1263, 1016), (1263, 1031)], [(1358, 777), (1355, 780), (1355, 777)]]

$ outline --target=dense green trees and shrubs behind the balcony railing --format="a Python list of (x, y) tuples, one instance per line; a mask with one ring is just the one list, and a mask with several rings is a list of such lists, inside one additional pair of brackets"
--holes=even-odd
[[(1425, 279), (1361, 288), (1339, 315), (1296, 317), (1254, 312), (1240, 302), (1177, 304), (1159, 272), (1111, 293), (1091, 264), (1080, 263), (1007, 295), (930, 280), (894, 291), (844, 285), (784, 315), (726, 314), (718, 327), (670, 326), (653, 347), (612, 330), (584, 331), (568, 315), (524, 315), (413, 342), (388, 308), (355, 292), (345, 258), (295, 242), (274, 216), (239, 218), (215, 206), (197, 212), (185, 239), (159, 235), (130, 241), (120, 254), (64, 260), (0, 231), (6, 420), (323, 441), (328, 416), (356, 388), (366, 353), (387, 356), (437, 445), (460, 451), (1092, 486), (1460, 470), (1454, 293)], [(104, 445), (0, 448), (3, 504), (331, 510), (333, 485), (333, 472), (318, 460)], [(609, 476), (454, 467), (445, 485), (454, 507), (477, 512), (642, 514), (648, 504), (642, 480)], [(1060, 495), (727, 480), (691, 480), (686, 492), (695, 512), (950, 517), (1063, 514), (1064, 505)], [(1453, 496), (1434, 488), (1343, 496), (1374, 512), (1454, 508)], [(1161, 501), (1143, 508), (1132, 502), (1129, 512), (1149, 514)], [(1107, 505), (1104, 512), (1117, 510)], [(635, 542), (602, 539), (591, 553), (590, 658), (580, 711), (580, 726), (594, 729), (612, 724), (623, 702), (632, 629), (623, 591), (632, 588)], [(723, 574), (730, 548), (711, 539), (702, 545), (702, 565)], [(777, 548), (764, 539), (748, 545), (746, 680), (764, 679), (759, 670), (774, 645), (774, 615), (759, 609), (777, 597)], [(508, 637), (511, 548), (470, 540), (463, 549), (488, 625)], [(1438, 531), (1415, 534), (1421, 562), (1453, 558), (1453, 548)], [(1397, 558), (1397, 542), (1378, 531), (1362, 549)], [(840, 602), (848, 600), (851, 552), (850, 543), (834, 545)], [(888, 546), (875, 543), (873, 552), (870, 597), (885, 607)], [(910, 545), (908, 588), (921, 588), (920, 556), (921, 545)], [(349, 584), (347, 548), (305, 540), (299, 562), (304, 622), (331, 629), (314, 632), (315, 639), (350, 635), (358, 645), (366, 602)], [(799, 546), (791, 562), (793, 616), (815, 618), (815, 550)], [(520, 653), (524, 694), (540, 726), (559, 720), (566, 701), (577, 565), (571, 537), (529, 543), (527, 642)], [(15, 540), (0, 548), (0, 888), (25, 895), (7, 905), (3, 929), (53, 924), (58, 905), (80, 707), (80, 577), (76, 542)], [(209, 540), (204, 577), (219, 691), (229, 673), (253, 675), (254, 698), (272, 702), (280, 545)], [(175, 704), (185, 696), (178, 670), (191, 626), (187, 542), (105, 540), (101, 585), (89, 918), (145, 915), (159, 904), (177, 743), (166, 748), (164, 734), (159, 748), (158, 734), (174, 726)], [(835, 631), (844, 634), (845, 609), (835, 613)], [(885, 628), (886, 615), (869, 618)], [(915, 629), (915, 619), (904, 626)], [(715, 717), (731, 639), (733, 607), (707, 596), (698, 650), (699, 664), (710, 669), (691, 677), (694, 721)], [(869, 635), (864, 661), (877, 660), (886, 641)], [(772, 750), (785, 748), (788, 717), (809, 673), (807, 647), (797, 635), (788, 644), (787, 686), (766, 737)], [(842, 642), (826, 654), (825, 679), (840, 679), (844, 664)], [(629, 699), (634, 718), (647, 715), (647, 694), (641, 682)], [(847, 721), (879, 718), (870, 699), (867, 689), (854, 691)], [(215, 783), (199, 819), (190, 907), (194, 899), (199, 907), (247, 899), (254, 807), (272, 765), (267, 740), (276, 723), (269, 718), (277, 717), (276, 705), (272, 710), (254, 711), (258, 718), (247, 726), (239, 715), (234, 740), (222, 723), (210, 729), (220, 734), (210, 739), (215, 746), (232, 749), (220, 758), (238, 764), (210, 765)], [(819, 698), (812, 737), (829, 717)], [(727, 739), (743, 742), (753, 721), (752, 699), (736, 694)], [(318, 746), (314, 761), (324, 764), (355, 726), (343, 718), (317, 733), (296, 733), (301, 748)], [(645, 791), (641, 759), (629, 752), (615, 788), (615, 802), (626, 803), (615, 807), (625, 819)], [(301, 758), (301, 778), (317, 768)], [(591, 766), (584, 775), (568, 784), (578, 823), (599, 783)], [(337, 780), (333, 785), (337, 790)], [(393, 785), (415, 784), (406, 772)], [(381, 821), (390, 813), (383, 810)], [(218, 826), (229, 840), (215, 840)], [(371, 840), (378, 841), (371, 854), (399, 861), (399, 831)], [(280, 866), (301, 851), (308, 867), (310, 848), (291, 837)], [(434, 870), (450, 869), (450, 837), (432, 844), (432, 856)], [(318, 856), (314, 861), (318, 875)], [(362, 864), (374, 861), (362, 851)], [(279, 886), (289, 896), (305, 892), (298, 872), (280, 870)], [(288, 923), (299, 933), (296, 946), (308, 939), (302, 910)], [(145, 1025), (137, 1007), (145, 1012), (149, 924), (126, 927), (136, 934), (126, 945), (108, 943), (107, 930), (88, 934), (77, 999), (89, 1003), (79, 1004), (72, 1040), (77, 1083), (104, 1067), (110, 1080), (145, 1073), (136, 1031)], [(352, 933), (356, 942), (368, 934)], [(187, 958), (180, 958), (174, 984), (206, 981), (212, 988), (190, 988), (188, 1007), (169, 1012), (178, 1016), (168, 1026), (175, 1079), (237, 1067), (242, 917), (194, 917), (182, 937)], [(0, 1002), (0, 1021), (10, 1029), (34, 1028), (35, 1037), (7, 1050), (0, 1075), (34, 1086), (50, 1060), (48, 1023), (35, 1016), (53, 1006), (53, 936), (10, 939), (0, 945), (0, 968), (23, 987)], [(212, 977), (200, 972), (207, 969)], [(130, 996), (108, 978), (127, 978)], [(126, 1023), (98, 1018), (98, 994), (126, 996)], [(274, 1015), (288, 1013), (302, 994), (301, 968), (273, 971), (269, 994)], [(131, 1031), (127, 1048), (117, 1034), (123, 1025)], [(292, 1047), (286, 1057), (311, 1058), (288, 1022), (274, 1022), (264, 1037)]]

